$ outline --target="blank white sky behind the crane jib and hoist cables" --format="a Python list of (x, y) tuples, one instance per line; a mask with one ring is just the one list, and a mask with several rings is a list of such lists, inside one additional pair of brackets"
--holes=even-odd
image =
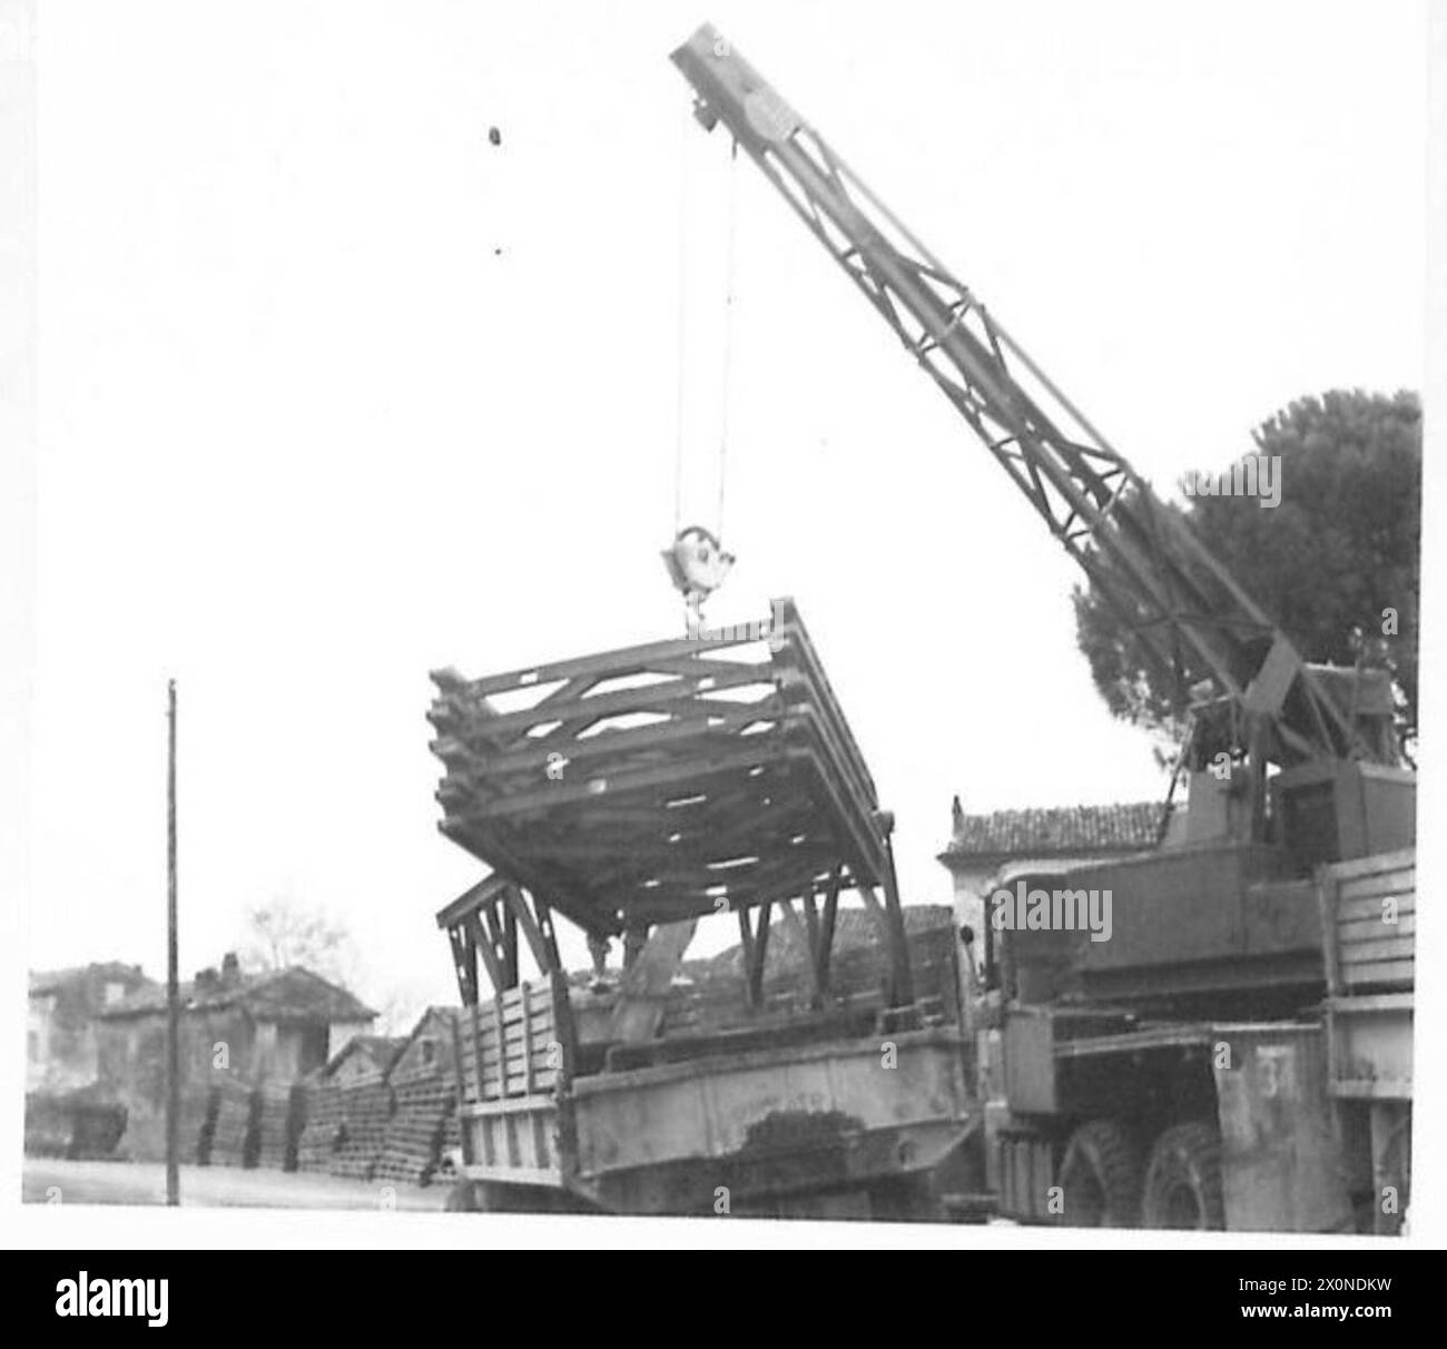
[[(365, 993), (454, 996), (433, 913), (479, 866), (436, 831), (427, 672), (680, 630), (680, 278), (713, 523), (728, 153), (667, 61), (696, 22), (1169, 489), (1289, 398), (1421, 386), (1422, 13), (46, 7), (30, 964), (162, 973), (175, 674), (182, 970), (288, 895)], [(735, 190), (709, 617), (794, 596), (906, 899), (942, 902), (952, 793), (1163, 782), (1023, 498), (747, 161)]]

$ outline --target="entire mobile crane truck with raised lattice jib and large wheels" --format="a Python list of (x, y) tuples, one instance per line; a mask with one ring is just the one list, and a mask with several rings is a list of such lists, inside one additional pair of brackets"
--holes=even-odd
[(988, 1052), (980, 1062), (998, 1211), (1395, 1230), (1411, 1177), (1417, 884), (1415, 774), (1398, 753), (1389, 672), (1305, 661), (726, 39), (705, 26), (673, 59), (702, 124), (725, 126), (1146, 657), (1197, 695), (1174, 845), (1010, 877), (1052, 909), (1108, 892), (1111, 939), (987, 923), (998, 1074)]

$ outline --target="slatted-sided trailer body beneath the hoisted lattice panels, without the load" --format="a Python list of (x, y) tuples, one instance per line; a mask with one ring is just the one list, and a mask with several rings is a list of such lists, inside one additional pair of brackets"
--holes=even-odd
[(580, 1073), (566, 991), (519, 984), (462, 1018), (464, 1207), (899, 1216), (978, 1126), (955, 1026), (809, 1013)]

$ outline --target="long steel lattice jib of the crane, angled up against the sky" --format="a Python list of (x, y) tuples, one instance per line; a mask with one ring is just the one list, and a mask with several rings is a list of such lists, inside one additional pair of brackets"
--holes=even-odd
[(722, 122), (778, 188), (1159, 669), (1210, 670), (1282, 763), (1379, 757), (1184, 520), (726, 38), (705, 25), (673, 62), (699, 122)]

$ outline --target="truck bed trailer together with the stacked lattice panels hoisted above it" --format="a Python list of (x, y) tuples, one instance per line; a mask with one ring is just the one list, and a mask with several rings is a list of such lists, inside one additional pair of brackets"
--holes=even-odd
[[(919, 996), (891, 821), (793, 604), (739, 630), (433, 677), (441, 831), (492, 868), (437, 916), (464, 1006), (459, 1204), (935, 1214), (925, 1177), (981, 1120), (972, 1042), (946, 1012), (958, 976)], [(838, 986), (846, 892), (875, 932), (873, 990)], [(724, 913), (737, 1015), (661, 1035), (693, 925)], [(622, 936), (625, 955), (647, 942), (612, 1005), (570, 986), (556, 915)], [(803, 951), (802, 1005), (783, 1015), (764, 997), (776, 919)]]

